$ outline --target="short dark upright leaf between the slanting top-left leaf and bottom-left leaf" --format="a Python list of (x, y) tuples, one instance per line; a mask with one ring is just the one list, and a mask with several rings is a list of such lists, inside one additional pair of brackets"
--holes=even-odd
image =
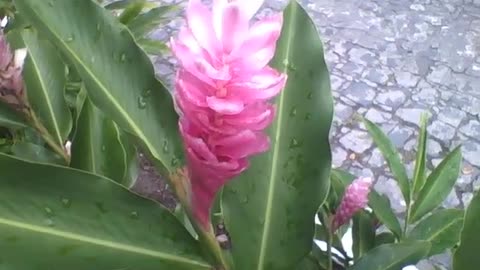
[(118, 126), (87, 99), (72, 143), (71, 166), (131, 187), (136, 179), (129, 169), (136, 152), (124, 144), (122, 136)]

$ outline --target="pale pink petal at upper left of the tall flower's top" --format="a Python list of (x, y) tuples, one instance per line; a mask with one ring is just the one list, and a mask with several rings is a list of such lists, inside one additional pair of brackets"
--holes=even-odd
[(217, 54), (217, 42), (213, 25), (211, 22), (211, 12), (204, 6), (200, 0), (190, 0), (186, 10), (188, 27), (200, 46), (207, 50), (210, 55)]

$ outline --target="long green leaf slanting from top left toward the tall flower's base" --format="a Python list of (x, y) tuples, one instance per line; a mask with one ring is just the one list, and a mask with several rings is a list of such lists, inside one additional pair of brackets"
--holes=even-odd
[(91, 0), (15, 4), (75, 64), (95, 106), (138, 136), (162, 173), (183, 166), (170, 93), (125, 26)]

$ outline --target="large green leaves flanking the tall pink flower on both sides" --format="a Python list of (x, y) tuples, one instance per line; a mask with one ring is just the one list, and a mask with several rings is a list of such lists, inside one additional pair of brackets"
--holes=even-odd
[(8, 36), (28, 51), (23, 76), (35, 117), (0, 106), (11, 136), (0, 154), (0, 266), (290, 270), (311, 262), (313, 220), (329, 186), (333, 100), (317, 30), (296, 1), (271, 63), (289, 76), (274, 100), (271, 150), (219, 196), (233, 242), (225, 260), (185, 215), (128, 190), (135, 146), (165, 176), (185, 165), (172, 98), (145, 53), (163, 48), (146, 36), (174, 7), (13, 4)]

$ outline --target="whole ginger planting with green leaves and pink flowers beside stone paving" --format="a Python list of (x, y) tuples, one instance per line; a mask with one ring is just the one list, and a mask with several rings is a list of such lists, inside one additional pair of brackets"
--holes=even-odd
[[(167, 46), (149, 34), (177, 5), (101, 2), (0, 1), (1, 267), (400, 269), (458, 244), (463, 212), (436, 208), (460, 150), (427, 177), (426, 119), (412, 181), (365, 121), (407, 202), (403, 226), (373, 179), (331, 170), (328, 69), (299, 3), (251, 23), (263, 1), (190, 0)], [(168, 48), (175, 91), (147, 55)], [(130, 189), (138, 149), (175, 211)], [(351, 219), (353, 256), (340, 241)], [(458, 265), (472, 256), (462, 245)]]

